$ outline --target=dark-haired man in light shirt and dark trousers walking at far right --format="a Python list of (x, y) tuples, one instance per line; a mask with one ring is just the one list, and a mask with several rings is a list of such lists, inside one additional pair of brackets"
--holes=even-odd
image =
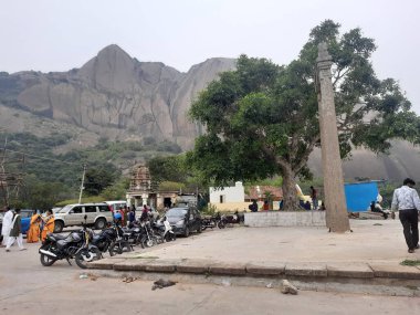
[(406, 178), (400, 188), (393, 191), (391, 210), (399, 212), (399, 218), (403, 228), (403, 235), (408, 245), (408, 252), (413, 253), (419, 249), (419, 219), (420, 199), (416, 189), (416, 181)]

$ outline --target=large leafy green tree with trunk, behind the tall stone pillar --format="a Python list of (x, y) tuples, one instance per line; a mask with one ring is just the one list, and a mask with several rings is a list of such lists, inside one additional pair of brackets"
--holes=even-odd
[(235, 71), (199, 95), (190, 116), (206, 133), (188, 158), (206, 179), (225, 186), (281, 175), (285, 209), (297, 207), (296, 177), (311, 177), (307, 160), (321, 145), (315, 64), (323, 41), (334, 62), (342, 157), (359, 146), (386, 153), (396, 137), (419, 141), (419, 118), (398, 83), (375, 74), (374, 40), (360, 29), (340, 35), (339, 28), (330, 20), (314, 28), (288, 65), (241, 55)]

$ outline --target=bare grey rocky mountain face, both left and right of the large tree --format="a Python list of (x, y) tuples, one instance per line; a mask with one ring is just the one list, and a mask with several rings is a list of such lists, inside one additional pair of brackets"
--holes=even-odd
[[(81, 69), (69, 72), (0, 72), (0, 126), (38, 136), (67, 133), (72, 147), (111, 140), (153, 137), (189, 149), (200, 129), (186, 113), (209, 82), (234, 69), (232, 59), (209, 59), (181, 73), (159, 62), (139, 62), (117, 45), (103, 49)], [(420, 180), (420, 150), (396, 141), (389, 156), (359, 149), (345, 161), (355, 177)], [(321, 154), (309, 166), (322, 175)]]

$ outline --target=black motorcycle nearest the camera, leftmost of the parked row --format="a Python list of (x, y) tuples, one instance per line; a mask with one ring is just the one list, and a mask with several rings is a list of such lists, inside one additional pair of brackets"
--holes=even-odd
[(67, 235), (48, 234), (39, 250), (41, 264), (51, 266), (57, 260), (65, 259), (72, 265), (70, 260), (74, 259), (80, 267), (85, 269), (86, 262), (101, 259), (99, 250), (90, 242), (92, 237), (93, 231), (85, 224), (80, 231)]

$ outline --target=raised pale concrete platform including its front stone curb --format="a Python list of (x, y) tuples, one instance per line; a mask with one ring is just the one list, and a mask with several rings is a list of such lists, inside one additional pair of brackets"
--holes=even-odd
[[(328, 233), (325, 228), (232, 228), (178, 239), (166, 246), (136, 251), (92, 264), (101, 270), (140, 273), (201, 275), (220, 282), (220, 276), (287, 277), (303, 288), (330, 290), (348, 284), (361, 292), (420, 296), (420, 267), (402, 266), (409, 254), (398, 220), (351, 220), (353, 233)], [(211, 275), (211, 277), (210, 277)], [(182, 276), (181, 276), (182, 277)], [(200, 279), (200, 277), (199, 277)], [(252, 282), (252, 281), (251, 281)], [(251, 283), (249, 282), (249, 283)], [(312, 285), (307, 285), (312, 283)], [(364, 287), (365, 286), (365, 287)]]

